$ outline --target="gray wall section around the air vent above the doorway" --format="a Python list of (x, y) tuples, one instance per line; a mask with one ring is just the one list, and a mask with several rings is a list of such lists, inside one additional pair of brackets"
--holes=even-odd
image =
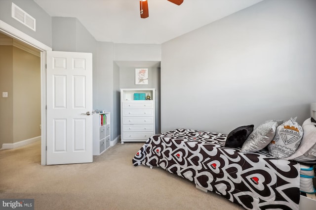
[[(36, 31), (11, 17), (12, 2), (36, 19)], [(52, 46), (51, 17), (33, 0), (0, 0), (0, 20), (32, 36), (41, 43)]]

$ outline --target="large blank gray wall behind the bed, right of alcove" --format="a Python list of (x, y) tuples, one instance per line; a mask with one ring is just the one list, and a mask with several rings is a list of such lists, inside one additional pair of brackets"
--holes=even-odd
[(310, 117), (316, 1), (265, 0), (161, 47), (161, 131)]

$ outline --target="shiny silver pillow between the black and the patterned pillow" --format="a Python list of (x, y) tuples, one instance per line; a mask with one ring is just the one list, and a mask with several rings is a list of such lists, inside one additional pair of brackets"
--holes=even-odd
[(259, 125), (248, 136), (241, 147), (241, 152), (255, 152), (264, 149), (276, 134), (276, 128), (283, 120), (268, 120)]

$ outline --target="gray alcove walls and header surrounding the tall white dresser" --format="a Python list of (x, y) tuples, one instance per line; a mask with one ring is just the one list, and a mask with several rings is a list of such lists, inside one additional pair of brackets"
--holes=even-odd
[[(160, 44), (114, 44), (114, 95), (117, 100), (118, 128), (120, 128), (121, 88), (156, 89), (156, 132), (160, 132)], [(148, 68), (148, 85), (135, 85), (135, 68)], [(116, 79), (118, 78), (118, 79)], [(114, 106), (115, 107), (115, 106)], [(118, 131), (120, 134), (120, 130)]]

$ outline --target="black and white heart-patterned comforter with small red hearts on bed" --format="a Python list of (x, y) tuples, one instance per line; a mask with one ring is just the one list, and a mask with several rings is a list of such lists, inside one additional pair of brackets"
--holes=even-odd
[(158, 166), (245, 209), (298, 210), (300, 165), (268, 151), (225, 148), (226, 137), (192, 129), (154, 135), (136, 153), (133, 165)]

